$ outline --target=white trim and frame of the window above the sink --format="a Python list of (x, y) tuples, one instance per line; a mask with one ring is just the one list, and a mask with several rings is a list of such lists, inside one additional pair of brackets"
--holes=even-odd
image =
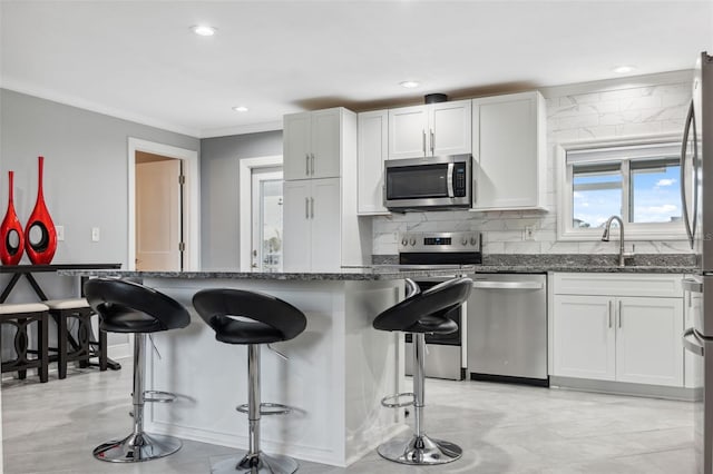
[[(556, 169), (559, 185), (557, 189), (557, 240), (588, 241), (600, 240), (599, 228), (575, 228), (573, 226), (573, 167), (567, 166), (567, 152), (587, 148), (626, 147), (636, 145), (656, 145), (681, 141), (678, 134), (656, 136), (637, 136), (608, 140), (586, 140), (558, 144), (556, 146)], [(628, 208), (631, 176), (628, 167), (622, 174), (627, 191), (623, 192), (622, 206)], [(686, 231), (683, 220), (677, 223), (625, 223), (625, 238), (627, 240), (685, 240)], [(616, 231), (618, 234), (618, 230)]]

